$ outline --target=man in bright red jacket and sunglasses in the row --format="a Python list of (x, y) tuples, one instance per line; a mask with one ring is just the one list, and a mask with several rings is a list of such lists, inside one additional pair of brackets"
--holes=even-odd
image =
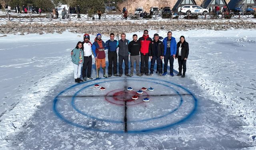
[(143, 36), (139, 38), (140, 47), (140, 74), (148, 74), (148, 49), (152, 39), (148, 36), (148, 30), (144, 30)]

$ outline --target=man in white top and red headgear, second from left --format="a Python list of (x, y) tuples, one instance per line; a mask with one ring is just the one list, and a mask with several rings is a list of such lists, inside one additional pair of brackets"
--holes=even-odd
[(82, 44), (84, 45), (84, 64), (82, 69), (82, 77), (84, 81), (86, 81), (86, 77), (92, 80), (92, 43), (90, 42), (89, 34), (84, 34), (84, 41)]

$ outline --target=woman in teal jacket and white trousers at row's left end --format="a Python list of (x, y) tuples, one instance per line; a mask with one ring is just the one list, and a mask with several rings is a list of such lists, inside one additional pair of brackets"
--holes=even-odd
[(82, 42), (78, 42), (76, 44), (76, 48), (72, 50), (73, 53), (71, 53), (71, 58), (74, 66), (74, 78), (76, 83), (80, 83), (83, 80), (80, 79), (81, 76), (81, 68), (84, 62), (84, 52), (83, 52), (83, 44)]

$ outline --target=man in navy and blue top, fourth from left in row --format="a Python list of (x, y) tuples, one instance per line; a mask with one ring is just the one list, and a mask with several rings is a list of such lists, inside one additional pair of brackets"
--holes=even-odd
[(117, 75), (117, 46), (118, 41), (114, 39), (115, 34), (110, 33), (110, 40), (106, 41), (105, 44), (105, 50), (108, 50), (108, 77), (112, 76), (112, 73), (114, 76)]

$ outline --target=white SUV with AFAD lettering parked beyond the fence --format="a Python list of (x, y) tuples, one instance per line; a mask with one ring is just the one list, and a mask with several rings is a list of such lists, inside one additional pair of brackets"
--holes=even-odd
[(183, 12), (184, 14), (207, 14), (209, 12), (208, 9), (204, 9), (197, 5), (185, 5), (180, 8), (180, 12)]

